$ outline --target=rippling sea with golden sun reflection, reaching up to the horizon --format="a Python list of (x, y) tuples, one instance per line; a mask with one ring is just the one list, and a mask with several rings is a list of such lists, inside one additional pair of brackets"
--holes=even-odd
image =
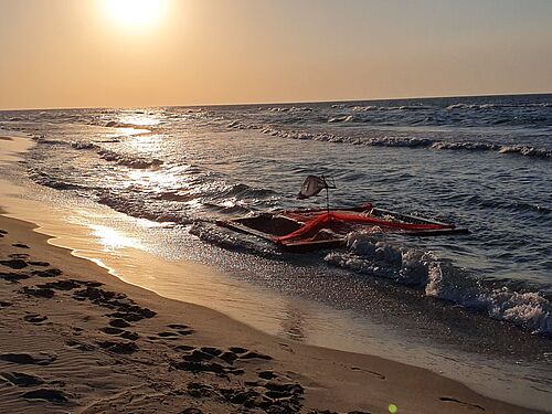
[[(552, 94), (7, 110), (0, 128), (34, 141), (1, 173), (72, 212), (60, 220), (106, 212), (91, 234), (224, 275), (183, 300), (552, 406)], [(469, 234), (357, 232), (343, 248), (293, 254), (216, 225), (325, 206), (297, 199), (309, 174), (335, 181), (330, 206), (370, 202)], [(125, 220), (102, 222), (112, 212)]]

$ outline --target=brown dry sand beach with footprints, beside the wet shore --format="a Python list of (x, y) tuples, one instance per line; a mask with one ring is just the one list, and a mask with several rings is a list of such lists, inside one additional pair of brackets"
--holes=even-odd
[[(243, 404), (256, 404), (254, 400), (258, 400), (258, 404), (263, 401), (267, 404), (272, 400), (272, 404), (278, 407), (274, 410), (288, 410), (275, 412), (330, 410), (385, 413), (389, 404), (395, 404), (400, 412), (408, 413), (464, 413), (467, 408), (476, 412), (485, 408), (490, 413), (539, 413), (481, 396), (456, 381), (424, 369), (270, 337), (214, 310), (163, 298), (126, 284), (89, 261), (71, 255), (66, 248), (47, 244), (50, 237), (34, 232), (35, 226), (31, 223), (2, 214), (0, 229), (7, 231), (0, 238), (1, 259), (26, 263), (21, 269), (10, 269), (6, 262), (1, 266), (2, 275), (12, 275), (12, 280), (3, 276), (0, 283), (0, 300), (4, 304), (0, 310), (2, 326), (11, 333), (0, 342), (3, 352), (0, 354), (0, 371), (13, 372), (21, 367), (25, 369), (25, 374), (44, 383), (65, 384), (53, 389), (35, 385), (34, 391), (50, 390), (36, 392), (34, 395), (42, 396), (39, 399), (22, 397), (32, 388), (3, 386), (0, 406), (22, 406), (26, 412), (62, 406), (74, 406), (83, 412), (105, 412), (115, 410), (115, 404), (120, 412), (121, 400), (109, 400), (112, 405), (105, 405), (105, 396), (98, 395), (94, 388), (83, 392), (86, 385), (75, 385), (87, 376), (86, 367), (91, 361), (100, 361), (102, 375), (106, 381), (112, 374), (136, 381), (136, 364), (147, 371), (146, 375), (156, 373), (159, 381), (170, 378), (163, 385), (164, 389), (170, 383), (170, 390), (161, 393), (162, 399), (156, 394), (153, 401), (150, 399), (148, 402), (153, 404), (151, 406), (162, 406), (166, 412), (177, 407), (181, 412), (188, 402), (190, 407), (203, 412), (223, 413), (247, 406)], [(13, 246), (15, 244), (19, 247)], [(41, 265), (33, 265), (45, 262), (49, 263), (46, 270), (60, 268), (62, 274), (44, 276), (40, 273), (44, 272)], [(29, 272), (29, 268), (32, 270)], [(102, 285), (94, 286), (97, 283)], [(117, 300), (113, 301), (110, 295), (127, 305), (114, 305)], [(12, 301), (13, 298), (18, 300)], [(128, 315), (125, 316), (125, 310), (120, 308), (114, 311), (113, 306), (125, 309), (128, 305), (137, 307), (138, 315), (141, 312), (144, 318), (134, 321), (129, 317), (132, 312), (126, 311)], [(148, 317), (150, 311), (156, 315)], [(114, 317), (113, 314), (123, 315)], [(109, 320), (106, 315), (110, 315), (107, 317)], [(123, 339), (125, 336), (130, 339)], [(136, 336), (138, 338), (132, 340)], [(42, 349), (44, 352), (42, 346), (45, 342), (41, 341), (44, 337), (49, 339), (46, 353), (53, 358), (47, 363), (39, 351)], [(238, 348), (246, 351), (232, 355), (231, 348), (236, 352)], [(219, 357), (229, 353), (226, 358), (232, 363), (208, 351), (219, 353)], [(39, 362), (23, 367), (21, 360), (6, 360), (6, 354), (15, 352), (26, 355), (20, 357), (23, 360), (30, 358)], [(247, 354), (250, 357), (244, 357)], [(75, 360), (79, 361), (76, 365)], [(117, 363), (116, 368), (112, 363)], [(241, 370), (243, 373), (238, 373)], [(100, 381), (98, 378), (94, 380)], [(128, 390), (126, 380), (108, 380), (110, 388), (125, 390), (126, 399), (130, 393), (139, 400), (156, 389), (149, 383), (149, 391), (140, 388)], [(182, 390), (184, 384), (188, 385)], [(229, 385), (232, 385), (231, 391), (227, 391)], [(75, 386), (81, 390), (79, 393)], [(19, 389), (25, 393), (18, 393)], [(164, 405), (167, 399), (171, 402)], [(232, 401), (242, 401), (242, 404)], [(132, 411), (131, 404), (125, 406)], [(264, 410), (255, 405), (251, 408)]]

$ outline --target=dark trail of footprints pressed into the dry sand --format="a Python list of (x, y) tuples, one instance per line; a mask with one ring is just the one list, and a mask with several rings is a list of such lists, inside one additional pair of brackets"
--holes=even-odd
[[(7, 234), (8, 232), (0, 230), (0, 238), (4, 237)], [(12, 246), (22, 250), (30, 248), (22, 243), (13, 243)], [(63, 275), (62, 270), (50, 267), (47, 262), (31, 261), (26, 253), (11, 254), (8, 259), (0, 261), (0, 265), (2, 265), (0, 266), (0, 279), (13, 285), (20, 285), (22, 282), (29, 282), (29, 279), (34, 277), (47, 279)], [(2, 272), (2, 267), (8, 267), (10, 270)], [(305, 390), (299, 383), (289, 380), (289, 378), (284, 374), (261, 369), (259, 371), (257, 370), (257, 372), (255, 372), (255, 370), (250, 371), (250, 373), (257, 375), (255, 381), (229, 381), (232, 378), (245, 373), (243, 369), (244, 362), (252, 360), (268, 362), (273, 359), (272, 357), (242, 347), (220, 349), (215, 347), (177, 344), (179, 340), (185, 339), (193, 333), (193, 330), (189, 326), (181, 323), (168, 325), (166, 330), (155, 336), (149, 335), (147, 338), (142, 338), (138, 332), (131, 330), (134, 327), (132, 323), (152, 318), (156, 316), (156, 312), (151, 309), (138, 306), (125, 294), (105, 290), (100, 288), (102, 286), (103, 284), (98, 282), (63, 278), (22, 286), (18, 291), (39, 299), (51, 299), (56, 295), (71, 295), (74, 300), (89, 301), (96, 306), (108, 309), (108, 312), (105, 314), (105, 316), (109, 318), (108, 326), (99, 329), (106, 338), (95, 343), (67, 340), (66, 344), (71, 348), (78, 349), (83, 352), (89, 352), (99, 347), (105, 351), (126, 355), (139, 351), (139, 347), (136, 343), (137, 340), (147, 339), (151, 343), (159, 342), (178, 352), (180, 357), (170, 362), (172, 369), (192, 373), (194, 378), (202, 374), (210, 374), (216, 378), (226, 379), (224, 383), (229, 386), (221, 386), (216, 382), (211, 383), (211, 381), (198, 382), (193, 380), (189, 382), (185, 393), (192, 399), (216, 399), (217, 401), (225, 401), (241, 407), (238, 410), (259, 408), (267, 413), (284, 414), (298, 413), (301, 411), (301, 400)], [(0, 300), (0, 310), (10, 308), (12, 305), (12, 302)], [(28, 312), (22, 319), (25, 322), (36, 326), (50, 323), (47, 316), (39, 314)], [(73, 330), (75, 335), (79, 335), (83, 328), (74, 327)], [(23, 367), (47, 367), (54, 362), (56, 358), (56, 355), (47, 353), (0, 353), (0, 361)], [(384, 380), (383, 375), (382, 380)], [(22, 390), (32, 389), (21, 393), (21, 397), (29, 401), (45, 401), (57, 405), (73, 404), (71, 395), (56, 388), (60, 385), (60, 381), (45, 381), (29, 372), (10, 371), (0, 372), (0, 382), (21, 388)], [(234, 385), (234, 388), (230, 385)], [(442, 397), (440, 401), (446, 403), (458, 403), (471, 408), (485, 411), (485, 408), (479, 405), (464, 403), (453, 397)], [(181, 413), (202, 414), (202, 411), (198, 407), (189, 407), (184, 408)], [(312, 410), (308, 413), (338, 414), (331, 411), (318, 410)], [(353, 411), (349, 412), (349, 414), (370, 413)]]

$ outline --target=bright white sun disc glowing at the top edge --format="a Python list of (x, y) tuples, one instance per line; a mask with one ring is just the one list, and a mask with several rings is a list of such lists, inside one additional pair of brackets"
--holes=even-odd
[(164, 2), (164, 0), (104, 0), (104, 6), (116, 24), (129, 29), (144, 29), (159, 21)]

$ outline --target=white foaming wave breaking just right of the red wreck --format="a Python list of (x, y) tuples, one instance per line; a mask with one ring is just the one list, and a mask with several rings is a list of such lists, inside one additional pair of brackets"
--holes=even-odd
[(347, 251), (331, 252), (325, 261), (360, 274), (421, 287), (428, 297), (482, 311), (534, 333), (552, 335), (550, 300), (522, 280), (481, 283), (431, 252), (397, 247), (373, 233), (351, 233), (347, 245)]

